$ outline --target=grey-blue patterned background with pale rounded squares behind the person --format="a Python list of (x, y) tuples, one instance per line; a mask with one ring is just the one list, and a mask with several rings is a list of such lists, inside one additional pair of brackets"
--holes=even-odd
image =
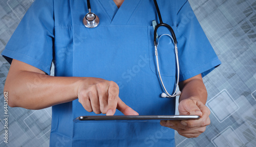
[[(0, 1), (0, 52), (32, 0)], [(222, 65), (204, 77), (211, 124), (198, 138), (176, 134), (177, 146), (255, 146), (256, 2), (189, 0)], [(49, 146), (51, 108), (9, 108), (9, 143), (3, 142), (3, 89), (10, 65), (0, 57), (0, 146)], [(156, 137), (159, 137), (155, 134)], [(254, 145), (253, 145), (254, 144)]]

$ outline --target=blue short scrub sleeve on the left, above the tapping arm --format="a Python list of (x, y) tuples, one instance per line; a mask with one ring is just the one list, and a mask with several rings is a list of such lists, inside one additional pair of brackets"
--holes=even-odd
[(36, 0), (7, 43), (2, 55), (32, 65), (50, 75), (53, 60), (53, 0)]

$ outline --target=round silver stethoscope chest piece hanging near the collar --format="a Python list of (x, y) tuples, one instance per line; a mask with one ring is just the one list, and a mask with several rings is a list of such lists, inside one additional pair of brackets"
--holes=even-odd
[(99, 24), (99, 17), (97, 15), (95, 15), (92, 12), (89, 12), (86, 14), (86, 16), (83, 17), (82, 20), (84, 26), (88, 27), (88, 28), (93, 28), (98, 26)]

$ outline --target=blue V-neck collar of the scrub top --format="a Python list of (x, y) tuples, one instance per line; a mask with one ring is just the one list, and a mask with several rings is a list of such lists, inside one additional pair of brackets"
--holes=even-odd
[(98, 0), (108, 14), (111, 24), (126, 24), (141, 0), (125, 0), (118, 7), (113, 0)]

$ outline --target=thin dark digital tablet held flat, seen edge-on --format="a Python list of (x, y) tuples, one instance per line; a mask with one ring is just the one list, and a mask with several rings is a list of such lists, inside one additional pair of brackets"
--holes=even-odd
[(79, 116), (74, 121), (119, 121), (119, 122), (156, 122), (156, 121), (181, 121), (181, 120), (198, 120), (198, 115), (94, 115)]

